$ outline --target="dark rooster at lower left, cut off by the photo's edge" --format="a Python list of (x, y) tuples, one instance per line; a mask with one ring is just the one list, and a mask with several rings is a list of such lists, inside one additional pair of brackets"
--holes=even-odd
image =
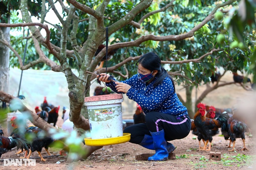
[(30, 143), (23, 139), (23, 138), (17, 138), (17, 137), (4, 137), (0, 136), (0, 158), (3, 153), (8, 152), (12, 148), (17, 147), (18, 149), (24, 150), (29, 150)]

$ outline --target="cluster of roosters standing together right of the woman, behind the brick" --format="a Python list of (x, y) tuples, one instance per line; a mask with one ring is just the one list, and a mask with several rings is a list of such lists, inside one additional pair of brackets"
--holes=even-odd
[[(191, 130), (192, 134), (198, 136), (200, 150), (211, 150), (212, 137), (219, 133), (219, 128), (225, 140), (230, 140), (229, 147), (233, 143), (233, 148), (229, 151), (235, 151), (236, 138), (242, 138), (242, 150), (248, 150), (245, 146), (245, 132), (248, 131), (248, 126), (238, 114), (232, 113), (229, 109), (223, 110), (203, 103), (198, 103), (197, 108), (194, 120), (191, 120)], [(201, 140), (204, 147), (201, 147)]]

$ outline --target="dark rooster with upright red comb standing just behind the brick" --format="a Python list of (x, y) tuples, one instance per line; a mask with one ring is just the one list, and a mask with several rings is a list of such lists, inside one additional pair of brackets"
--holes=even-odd
[[(212, 136), (219, 133), (218, 128), (221, 127), (221, 122), (219, 122), (215, 119), (210, 119), (210, 118), (206, 117), (205, 104), (198, 103), (197, 108), (198, 108), (198, 111), (195, 113), (194, 123), (195, 123), (195, 126), (196, 126), (198, 132), (200, 132), (202, 134), (203, 139), (206, 141), (203, 149), (200, 149), (200, 150), (210, 151), (211, 144), (212, 144)], [(211, 117), (215, 117), (215, 107), (210, 106), (209, 112), (211, 114)], [(209, 142), (209, 149), (206, 149), (208, 142)]]

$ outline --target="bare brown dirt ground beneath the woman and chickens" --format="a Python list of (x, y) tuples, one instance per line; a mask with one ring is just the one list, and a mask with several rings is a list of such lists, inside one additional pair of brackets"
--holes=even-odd
[[(227, 75), (224, 81), (231, 81), (231, 75)], [(198, 89), (197, 95), (199, 96), (205, 85)], [(185, 92), (182, 88), (177, 88), (177, 92), (184, 96)], [(238, 85), (230, 85), (226, 87), (221, 87), (215, 90), (203, 100), (204, 103), (209, 105), (215, 105), (219, 108), (230, 108), (236, 105), (238, 102), (244, 101), (244, 97), (247, 95), (253, 95), (255, 97), (255, 92), (247, 92)], [(255, 113), (254, 113), (255, 114)], [(133, 114), (130, 116), (125, 116), (123, 119), (132, 119)], [(252, 117), (253, 121), (255, 116)], [(57, 126), (61, 127), (63, 121), (59, 117)], [(102, 149), (93, 152), (87, 160), (78, 161), (73, 163), (67, 163), (67, 156), (59, 156), (59, 151), (52, 148), (49, 149), (53, 156), (48, 156), (46, 151), (43, 149), (42, 155), (47, 160), (46, 162), (41, 161), (36, 152), (32, 153), (30, 158), (36, 159), (36, 166), (3, 166), (3, 159), (8, 158), (19, 158), (14, 153), (17, 152), (16, 149), (11, 152), (4, 153), (0, 158), (0, 169), (6, 170), (24, 170), (24, 169), (49, 169), (49, 170), (84, 170), (84, 169), (114, 169), (114, 170), (142, 170), (142, 169), (197, 169), (197, 168), (210, 168), (210, 169), (255, 169), (256, 165), (256, 145), (255, 137), (256, 135), (252, 132), (253, 137), (248, 137), (246, 135), (245, 144), (248, 150), (241, 151), (243, 148), (243, 143), (241, 139), (236, 140), (236, 152), (228, 151), (229, 141), (224, 140), (224, 137), (218, 135), (213, 137), (213, 147), (211, 152), (221, 152), (221, 161), (210, 159), (209, 151), (202, 151), (198, 149), (198, 140), (194, 139), (196, 137), (191, 132), (190, 134), (181, 140), (174, 140), (172, 143), (177, 146), (174, 153), (176, 159), (153, 162), (153, 161), (137, 161), (135, 156), (142, 153), (153, 153), (153, 150), (145, 149), (144, 147), (132, 144), (132, 143), (122, 143), (115, 145), (104, 146)], [(202, 144), (202, 142), (201, 142)], [(59, 164), (56, 164), (59, 163)]]

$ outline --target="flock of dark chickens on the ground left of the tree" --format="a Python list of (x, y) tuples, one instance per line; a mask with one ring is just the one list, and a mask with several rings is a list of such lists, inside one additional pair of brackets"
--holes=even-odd
[[(37, 115), (46, 122), (53, 123), (53, 126), (56, 125), (59, 106), (54, 107), (53, 105), (48, 104), (46, 97), (44, 97), (44, 101), (41, 104), (41, 109), (36, 106), (35, 111)], [(24, 157), (21, 158), (29, 159), (32, 152), (37, 151), (41, 161), (46, 161), (41, 155), (41, 151), (45, 148), (48, 155), (51, 155), (48, 148), (55, 146), (55, 143), (61, 143), (63, 146), (60, 151), (61, 155), (65, 155), (66, 152), (69, 152), (69, 147), (61, 140), (54, 140), (49, 134), (47, 134), (47, 132), (36, 126), (29, 126), (25, 129), (23, 127), (18, 127), (18, 125), (15, 124), (15, 119), (17, 119), (17, 117), (14, 116), (12, 118), (12, 122), (14, 122), (12, 126), (14, 126), (14, 130), (9, 137), (3, 136), (3, 131), (0, 130), (0, 157), (3, 153), (17, 147), (17, 150), (21, 150), (15, 153), (16, 155), (22, 153), (24, 150), (26, 151)]]

